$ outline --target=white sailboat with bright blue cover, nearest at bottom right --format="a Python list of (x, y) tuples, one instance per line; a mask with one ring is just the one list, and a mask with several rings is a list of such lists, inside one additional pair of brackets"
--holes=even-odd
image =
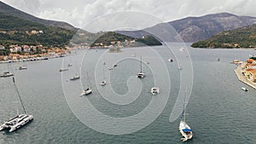
[(185, 107), (185, 102), (183, 105), (183, 116), (180, 120), (179, 123), (179, 132), (183, 137), (181, 138), (182, 141), (188, 141), (189, 139), (192, 139), (193, 137), (193, 132), (191, 128), (189, 127), (189, 124), (186, 123), (186, 107)]

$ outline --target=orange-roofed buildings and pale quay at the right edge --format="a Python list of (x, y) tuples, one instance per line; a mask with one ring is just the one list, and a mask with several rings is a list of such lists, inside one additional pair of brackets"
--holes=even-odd
[(241, 82), (256, 89), (256, 57), (251, 57), (246, 62), (237, 61), (238, 66), (235, 69), (236, 76)]

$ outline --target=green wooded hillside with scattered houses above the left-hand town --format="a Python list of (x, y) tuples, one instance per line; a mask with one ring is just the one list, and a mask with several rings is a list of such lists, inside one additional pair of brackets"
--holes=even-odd
[(42, 44), (45, 47), (63, 47), (73, 37), (74, 30), (44, 26), (37, 22), (0, 13), (0, 44)]

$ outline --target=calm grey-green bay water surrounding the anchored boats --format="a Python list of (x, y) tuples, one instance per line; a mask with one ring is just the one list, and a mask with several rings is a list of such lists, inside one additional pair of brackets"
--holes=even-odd
[[(183, 46), (180, 43), (171, 45), (172, 49)], [(256, 143), (256, 90), (242, 84), (236, 78), (236, 66), (230, 64), (234, 58), (246, 60), (249, 55), (255, 55), (256, 51), (192, 49), (189, 48), (189, 43), (187, 46), (194, 70), (190, 73), (194, 76), (194, 81), (187, 106), (187, 122), (195, 135), (186, 143)], [(183, 143), (178, 132), (180, 119), (177, 118), (172, 123), (169, 121), (180, 89), (177, 60), (173, 63), (168, 61), (168, 58), (174, 55), (165, 46), (147, 49), (123, 49), (119, 54), (109, 54), (106, 49), (78, 50), (79, 55), (68, 56), (65, 59), (26, 62), (28, 69), (25, 71), (17, 70), (21, 63), (9, 65), (11, 68), (7, 64), (1, 64), (0, 72), (12, 69), (15, 73), (16, 84), (26, 111), (33, 114), (34, 120), (13, 133), (1, 131), (0, 143)], [(104, 55), (100, 57), (102, 54)], [(149, 61), (149, 64), (143, 63), (143, 71), (147, 76), (141, 82), (137, 82), (136, 78), (132, 79), (131, 76), (140, 69), (140, 55), (143, 55), (143, 61)], [(161, 63), (158, 58), (162, 59)], [(105, 66), (102, 65), (102, 61), (106, 61)], [(109, 71), (108, 66), (114, 62), (117, 62), (118, 66)], [(67, 63), (74, 65), (61, 75), (59, 68), (62, 65), (67, 66)], [(147, 108), (152, 99), (160, 99), (153, 97), (148, 91), (154, 86), (154, 74), (157, 75), (154, 73), (154, 67), (159, 65), (166, 66), (171, 85), (165, 84), (168, 76), (160, 76), (156, 84), (164, 85), (161, 85), (158, 96), (165, 96), (168, 92), (170, 96), (160, 116), (142, 130), (125, 135), (104, 134), (83, 124), (76, 117), (77, 113), (74, 114), (70, 108), (73, 107), (72, 103), (77, 102), (77, 107), (80, 107), (79, 102), (88, 99), (98, 111), (113, 118), (135, 115)], [(80, 67), (81, 80), (69, 81), (68, 78), (79, 73)], [(105, 94), (111, 91), (107, 89), (109, 87), (101, 88), (97, 85), (102, 78), (109, 78), (107, 85), (111, 84), (113, 91), (119, 95), (125, 95), (129, 91), (127, 79), (131, 78), (131, 81), (134, 80), (138, 85), (133, 84), (129, 88), (136, 89), (142, 84), (141, 95), (128, 105), (114, 105), (102, 98), (98, 91), (102, 90)], [(94, 90), (93, 93), (88, 97), (80, 97), (81, 91), (77, 89), (88, 86)], [(242, 86), (247, 87), (249, 91), (242, 91)], [(169, 89), (168, 92), (165, 89)], [(1, 123), (14, 117), (17, 107), (19, 112), (22, 112), (11, 78), (0, 78), (0, 96)], [(94, 118), (94, 113), (87, 113), (85, 117)], [(148, 113), (151, 114), (155, 113)], [(95, 124), (100, 122), (98, 119), (93, 120)], [(131, 124), (131, 127), (137, 127), (137, 124)]]

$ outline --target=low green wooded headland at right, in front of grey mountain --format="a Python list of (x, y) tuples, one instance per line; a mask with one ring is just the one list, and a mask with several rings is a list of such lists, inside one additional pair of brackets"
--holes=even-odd
[(256, 48), (256, 25), (219, 32), (191, 46), (194, 48)]

